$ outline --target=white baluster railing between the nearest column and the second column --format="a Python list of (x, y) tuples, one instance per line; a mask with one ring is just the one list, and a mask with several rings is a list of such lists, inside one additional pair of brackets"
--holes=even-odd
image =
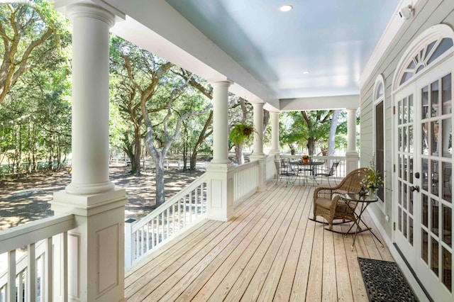
[(125, 223), (125, 267), (206, 218), (206, 173), (140, 220)]

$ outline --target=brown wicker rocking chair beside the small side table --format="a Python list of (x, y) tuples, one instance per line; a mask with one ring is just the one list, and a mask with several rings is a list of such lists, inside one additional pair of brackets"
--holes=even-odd
[(321, 216), (328, 222), (328, 230), (333, 229), (333, 220), (342, 219), (342, 223), (355, 221), (355, 208), (358, 203), (353, 201), (345, 201), (336, 194), (343, 193), (358, 193), (361, 189), (360, 182), (367, 177), (365, 168), (355, 169), (350, 172), (337, 186), (319, 187), (314, 191), (314, 220), (318, 223), (322, 221), (316, 220), (316, 216)]

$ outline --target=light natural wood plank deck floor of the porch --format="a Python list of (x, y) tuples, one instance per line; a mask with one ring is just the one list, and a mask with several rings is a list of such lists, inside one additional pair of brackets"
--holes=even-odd
[(358, 235), (352, 251), (351, 235), (309, 220), (313, 193), (310, 185), (268, 183), (230, 221), (199, 223), (128, 270), (126, 298), (367, 301), (357, 257), (392, 256), (369, 232)]

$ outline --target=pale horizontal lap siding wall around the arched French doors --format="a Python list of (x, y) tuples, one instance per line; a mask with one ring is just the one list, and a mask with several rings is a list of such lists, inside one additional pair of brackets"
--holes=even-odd
[[(384, 78), (384, 111), (385, 111), (385, 177), (386, 187), (392, 189), (392, 177), (394, 168), (392, 163), (392, 80), (394, 72), (404, 51), (409, 44), (424, 30), (443, 23), (454, 29), (454, 4), (452, 0), (431, 0), (419, 1), (414, 16), (407, 21), (403, 21), (404, 26), (399, 30), (399, 33), (394, 38), (392, 43), (387, 48), (384, 55), (380, 57), (378, 64), (373, 69), (367, 79), (362, 79), (364, 83), (361, 86), (360, 92), (360, 150), (361, 160), (360, 167), (367, 167), (374, 152), (374, 133), (372, 118), (374, 104), (374, 85), (375, 79), (379, 74)], [(418, 138), (415, 138), (417, 140)], [(386, 234), (392, 237), (392, 191), (385, 191), (384, 208), (380, 206), (371, 206), (370, 209), (375, 214), (377, 221), (380, 222)], [(385, 220), (385, 216), (389, 216), (389, 221)]]

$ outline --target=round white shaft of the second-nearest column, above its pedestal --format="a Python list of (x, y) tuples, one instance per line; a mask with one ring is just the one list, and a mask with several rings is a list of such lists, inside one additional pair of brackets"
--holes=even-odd
[(214, 82), (213, 86), (213, 160), (227, 164), (228, 160), (228, 87), (231, 82)]

